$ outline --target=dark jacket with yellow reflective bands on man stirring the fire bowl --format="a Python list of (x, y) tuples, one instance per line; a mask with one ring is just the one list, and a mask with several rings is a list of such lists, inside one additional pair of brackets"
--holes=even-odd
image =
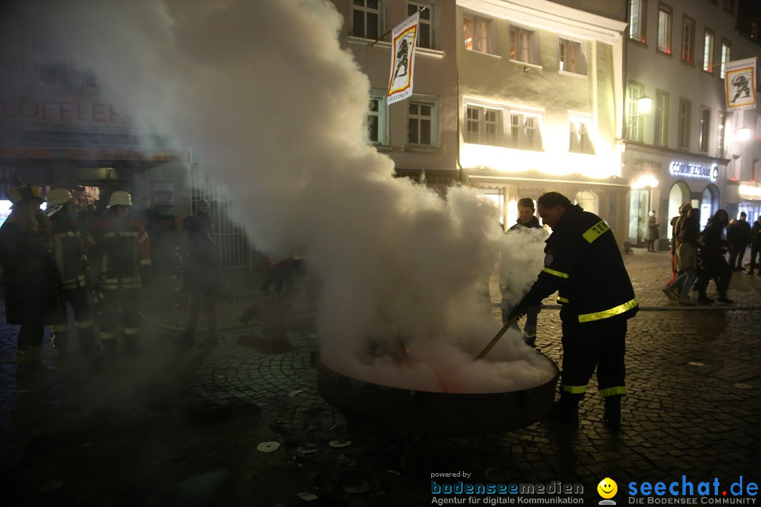
[(605, 220), (574, 205), (546, 240), (544, 268), (519, 307), (558, 291), (563, 322), (584, 325), (632, 318), (638, 310), (632, 282)]

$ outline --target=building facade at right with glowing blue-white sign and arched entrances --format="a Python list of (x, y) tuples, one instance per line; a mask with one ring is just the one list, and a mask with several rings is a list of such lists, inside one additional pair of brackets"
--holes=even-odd
[(632, 245), (646, 241), (655, 211), (667, 249), (683, 202), (701, 210), (702, 223), (720, 208), (758, 216), (761, 122), (756, 109), (732, 111), (726, 98), (726, 65), (759, 55), (736, 29), (737, 8), (734, 0), (629, 2), (622, 163)]

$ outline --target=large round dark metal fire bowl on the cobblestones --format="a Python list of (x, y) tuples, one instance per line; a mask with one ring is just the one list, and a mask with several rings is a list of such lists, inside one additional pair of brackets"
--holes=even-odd
[(317, 357), (317, 388), (348, 420), (432, 436), (505, 433), (536, 423), (555, 402), (558, 367), (549, 382), (522, 391), (444, 393), (373, 384), (325, 366)]

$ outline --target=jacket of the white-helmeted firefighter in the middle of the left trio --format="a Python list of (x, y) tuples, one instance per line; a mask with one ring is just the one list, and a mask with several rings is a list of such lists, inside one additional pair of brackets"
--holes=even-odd
[(50, 217), (53, 236), (53, 255), (61, 275), (64, 290), (73, 290), (87, 284), (88, 257), (84, 255), (84, 242), (77, 224), (68, 214), (59, 211)]

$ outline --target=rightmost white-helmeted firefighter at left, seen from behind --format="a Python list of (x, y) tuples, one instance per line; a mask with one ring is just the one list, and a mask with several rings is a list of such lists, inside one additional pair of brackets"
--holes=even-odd
[(97, 291), (100, 298), (100, 344), (108, 355), (116, 350), (119, 305), (124, 325), (126, 353), (141, 353), (139, 344), (140, 270), (151, 265), (148, 233), (138, 220), (128, 217), (132, 196), (111, 194), (103, 220), (96, 223), (88, 244), (97, 259)]

